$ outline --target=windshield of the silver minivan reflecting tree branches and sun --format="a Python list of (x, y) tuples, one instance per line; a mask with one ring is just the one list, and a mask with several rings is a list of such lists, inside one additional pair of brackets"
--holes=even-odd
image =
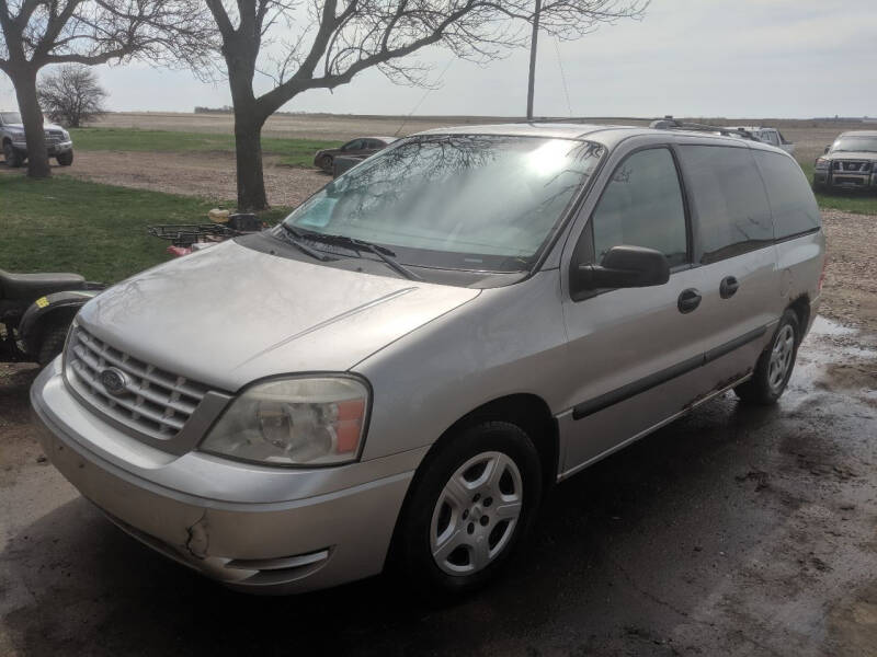
[(285, 223), (305, 235), (387, 246), (409, 265), (520, 272), (556, 230), (604, 150), (533, 137), (406, 139), (329, 183)]

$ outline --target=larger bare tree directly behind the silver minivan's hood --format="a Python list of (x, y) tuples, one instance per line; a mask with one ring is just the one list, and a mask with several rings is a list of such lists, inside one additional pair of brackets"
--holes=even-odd
[[(2, 1), (2, 0), (0, 0)], [(399, 83), (428, 83), (411, 55), (441, 46), (490, 60), (526, 44), (533, 0), (205, 0), (221, 37), (235, 105), (238, 206), (267, 207), (261, 131), (271, 114), (311, 89), (334, 89), (377, 67)], [(640, 18), (649, 0), (546, 0), (539, 28), (569, 39), (600, 24)], [(305, 18), (301, 21), (301, 18)], [(278, 30), (293, 28), (291, 41)], [(261, 55), (261, 57), (260, 57)], [(257, 73), (273, 82), (253, 91)]]

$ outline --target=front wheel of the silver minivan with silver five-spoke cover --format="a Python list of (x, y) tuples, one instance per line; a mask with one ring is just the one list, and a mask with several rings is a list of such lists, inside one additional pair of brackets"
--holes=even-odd
[(431, 598), (494, 579), (531, 533), (543, 481), (533, 441), (516, 425), (482, 422), (424, 462), (400, 518), (406, 580)]

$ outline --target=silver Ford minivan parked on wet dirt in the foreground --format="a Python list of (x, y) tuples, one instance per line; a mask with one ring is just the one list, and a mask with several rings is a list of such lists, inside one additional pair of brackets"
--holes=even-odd
[(235, 588), (496, 576), (546, 487), (783, 393), (820, 216), (785, 152), (677, 129), (400, 140), (283, 223), (116, 285), (32, 402), (52, 462)]

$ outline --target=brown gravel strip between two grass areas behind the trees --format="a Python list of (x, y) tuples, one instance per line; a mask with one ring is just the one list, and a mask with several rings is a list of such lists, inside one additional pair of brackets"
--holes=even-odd
[[(273, 206), (297, 206), (331, 180), (315, 169), (278, 161), (276, 157), (263, 158), (265, 192)], [(203, 198), (237, 197), (235, 157), (230, 153), (80, 151), (72, 166), (53, 166), (53, 173)]]

